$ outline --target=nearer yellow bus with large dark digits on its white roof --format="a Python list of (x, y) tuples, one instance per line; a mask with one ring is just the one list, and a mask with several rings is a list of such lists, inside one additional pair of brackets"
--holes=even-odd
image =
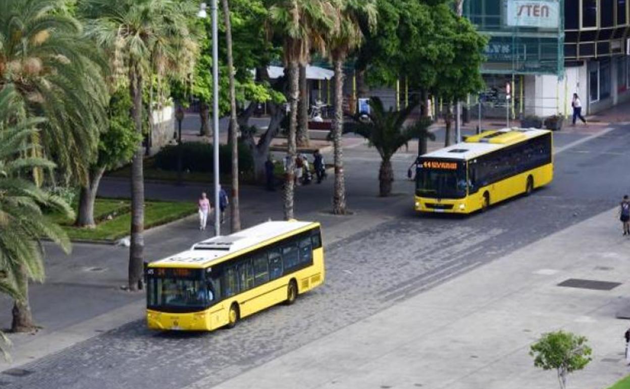
[(147, 325), (214, 330), (324, 282), (319, 223), (268, 221), (147, 265)]

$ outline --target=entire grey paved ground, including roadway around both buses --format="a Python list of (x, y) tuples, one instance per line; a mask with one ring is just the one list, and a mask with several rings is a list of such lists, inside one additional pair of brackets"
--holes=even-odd
[[(351, 216), (333, 216), (333, 178), (297, 188), (296, 215), (323, 224), (326, 284), (209, 334), (157, 333), (144, 296), (120, 290), (128, 249), (74, 246), (47, 252), (47, 282), (31, 287), (37, 334), (10, 335), (9, 388), (550, 388), (554, 373), (527, 354), (543, 332), (587, 335), (593, 362), (571, 388), (602, 388), (627, 373), (630, 238), (614, 207), (630, 192), (630, 126), (575, 127), (554, 135), (554, 182), (467, 218), (413, 212), (396, 154), (394, 194), (377, 197), (379, 158), (365, 142), (345, 151)], [(604, 124), (605, 123), (605, 124)], [(439, 128), (435, 130), (438, 139)], [(438, 142), (432, 148), (439, 147)], [(331, 155), (326, 154), (331, 161)], [(101, 195), (126, 195), (105, 179)], [(204, 185), (147, 183), (147, 198), (195, 201)], [(242, 189), (243, 223), (282, 217), (280, 192)], [(619, 225), (618, 225), (619, 224)], [(225, 224), (226, 226), (228, 224)], [(211, 231), (210, 231), (211, 234)], [(146, 233), (156, 260), (209, 233), (187, 218)], [(619, 282), (610, 291), (557, 286)], [(10, 301), (0, 320), (10, 322)], [(20, 369), (20, 370), (8, 370)]]

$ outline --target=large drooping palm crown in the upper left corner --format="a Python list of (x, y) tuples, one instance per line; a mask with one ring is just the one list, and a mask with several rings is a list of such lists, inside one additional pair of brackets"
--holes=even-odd
[[(0, 89), (13, 84), (45, 117), (31, 141), (54, 156), (67, 181), (86, 182), (106, 121), (106, 61), (58, 0), (0, 1)], [(35, 172), (37, 183), (42, 175)]]

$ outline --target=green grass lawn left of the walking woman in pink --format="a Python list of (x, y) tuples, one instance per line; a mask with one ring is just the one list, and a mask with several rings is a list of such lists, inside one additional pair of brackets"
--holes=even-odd
[[(184, 218), (197, 212), (197, 205), (190, 202), (146, 201), (144, 208), (144, 228), (149, 229), (161, 224)], [(131, 223), (130, 201), (120, 199), (96, 199), (94, 217), (96, 228), (76, 228), (74, 220), (59, 215), (51, 215), (61, 224), (73, 240), (114, 241), (129, 235)], [(108, 219), (108, 216), (112, 216)]]

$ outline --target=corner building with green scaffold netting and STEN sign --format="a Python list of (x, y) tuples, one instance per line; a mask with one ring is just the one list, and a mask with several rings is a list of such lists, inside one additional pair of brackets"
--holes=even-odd
[(592, 114), (630, 98), (628, 3), (465, 0), (464, 15), (490, 38), (484, 114), (568, 116), (573, 93)]

